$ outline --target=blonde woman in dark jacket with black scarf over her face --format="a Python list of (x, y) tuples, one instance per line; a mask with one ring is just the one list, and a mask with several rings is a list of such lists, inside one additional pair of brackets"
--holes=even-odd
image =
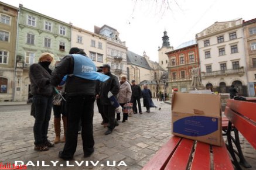
[(53, 54), (43, 53), (39, 57), (39, 62), (29, 67), (30, 89), (35, 107), (33, 132), (36, 151), (47, 151), (49, 147), (53, 147), (53, 144), (47, 140), (53, 103), (53, 86), (50, 84), (52, 71), (49, 68), (52, 62)]

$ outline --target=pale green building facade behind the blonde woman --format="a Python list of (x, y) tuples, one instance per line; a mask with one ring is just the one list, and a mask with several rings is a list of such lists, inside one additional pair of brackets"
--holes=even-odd
[(67, 55), (71, 44), (71, 25), (20, 5), (17, 41), (14, 100), (26, 100), (30, 64), (37, 63), (44, 52), (54, 54), (55, 60)]

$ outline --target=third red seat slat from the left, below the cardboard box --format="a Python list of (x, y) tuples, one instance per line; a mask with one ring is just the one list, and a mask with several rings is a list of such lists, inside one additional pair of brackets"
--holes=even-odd
[(191, 170), (211, 169), (210, 162), (210, 145), (197, 141), (194, 157), (192, 160)]

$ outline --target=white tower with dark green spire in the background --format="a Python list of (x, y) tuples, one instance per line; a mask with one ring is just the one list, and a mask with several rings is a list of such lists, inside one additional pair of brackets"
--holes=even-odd
[(169, 51), (173, 50), (173, 47), (170, 46), (169, 43), (169, 37), (167, 35), (166, 30), (163, 32), (163, 37), (162, 37), (163, 43), (162, 43), (162, 47), (158, 47), (158, 63), (159, 65), (164, 68), (166, 71), (168, 70), (168, 56), (166, 55), (166, 53), (168, 53)]

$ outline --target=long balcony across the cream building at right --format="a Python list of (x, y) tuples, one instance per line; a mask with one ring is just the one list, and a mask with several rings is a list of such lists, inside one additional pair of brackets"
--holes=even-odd
[(240, 67), (238, 69), (230, 69), (230, 70), (219, 70), (219, 71), (212, 71), (212, 72), (201, 72), (201, 78), (205, 79), (206, 77), (216, 77), (221, 75), (234, 75), (237, 74), (240, 77), (244, 75), (244, 67)]

